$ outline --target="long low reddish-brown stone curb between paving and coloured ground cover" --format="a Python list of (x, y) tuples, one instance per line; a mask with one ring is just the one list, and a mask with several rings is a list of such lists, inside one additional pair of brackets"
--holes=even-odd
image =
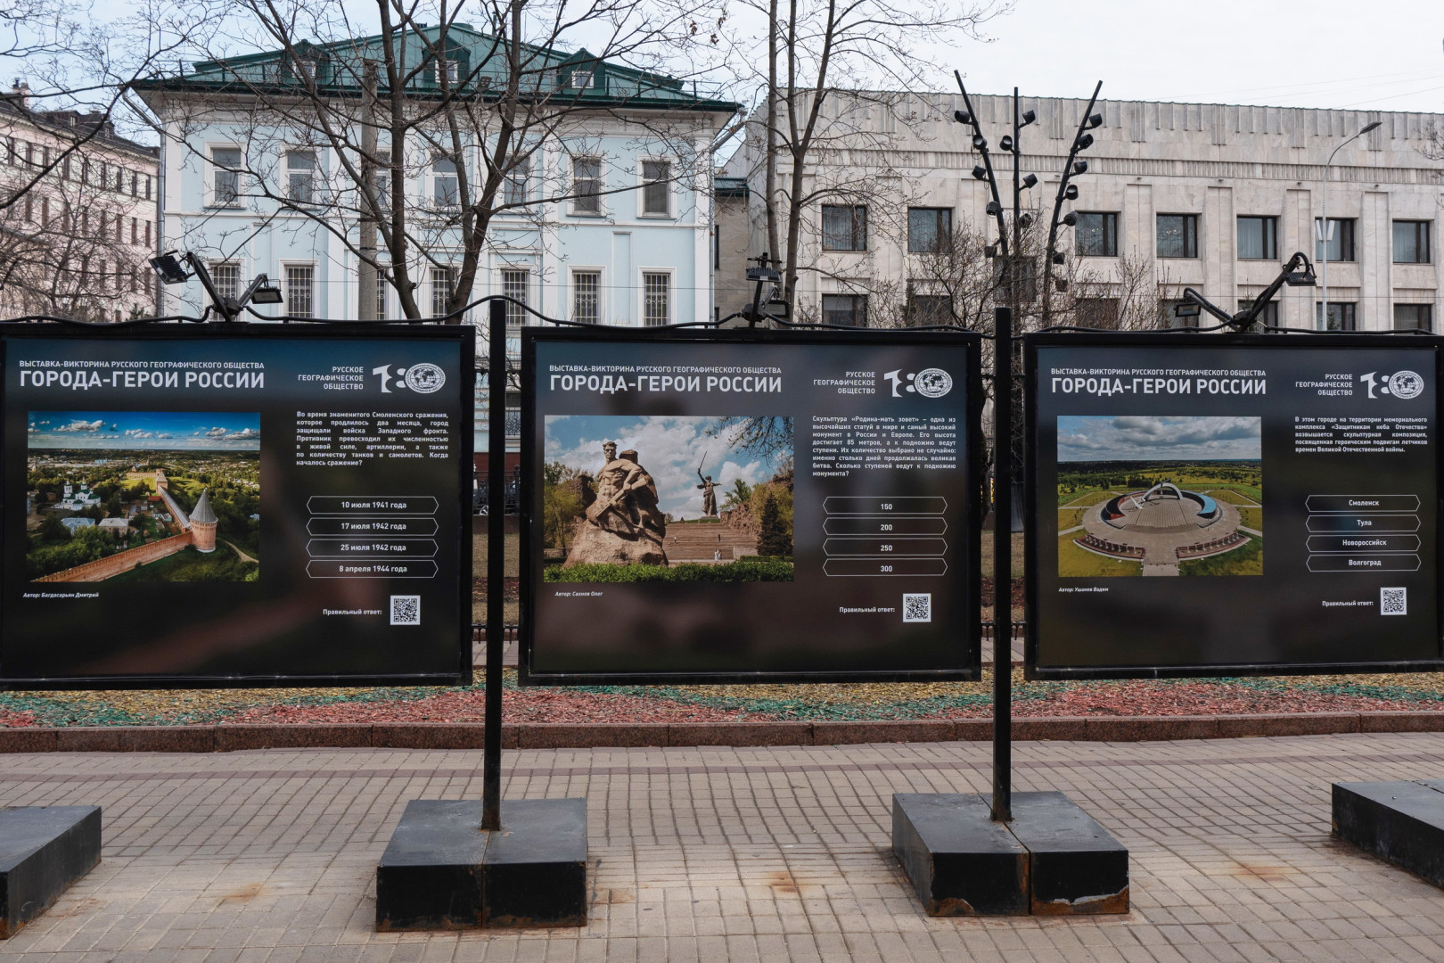
[[(1444, 712), (1320, 712), (1233, 716), (1060, 716), (1012, 720), (1018, 741), (1164, 742), (1337, 732), (1444, 732)], [(479, 749), (474, 722), (0, 728), (4, 752), (238, 752), (244, 749)], [(989, 719), (900, 722), (527, 722), (505, 725), (505, 749), (982, 742)]]

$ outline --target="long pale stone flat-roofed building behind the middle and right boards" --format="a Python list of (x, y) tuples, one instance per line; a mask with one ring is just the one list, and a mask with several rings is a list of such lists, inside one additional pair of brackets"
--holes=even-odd
[[(1011, 157), (999, 140), (1012, 133), (1012, 98), (975, 95), (972, 104), (1011, 206)], [(1044, 225), (1086, 105), (1064, 98), (1019, 104), (1037, 116), (1022, 130), (1019, 166), (1038, 176), (1025, 205), (1041, 208)], [(920, 263), (960, 225), (996, 232), (985, 212), (986, 186), (970, 173), (980, 162), (972, 128), (953, 120), (963, 108), (959, 94), (838, 94), (825, 101), (825, 123), (840, 136), (825, 137), (826, 149), (806, 170), (807, 191), (820, 196), (807, 209), (800, 247), (800, 315), (866, 323), (879, 313), (869, 299), (895, 302), (900, 292), (946, 313)], [(1440, 325), (1444, 162), (1427, 152), (1431, 131), (1444, 130), (1444, 114), (1145, 101), (1100, 101), (1095, 113), (1103, 123), (1079, 154), (1087, 172), (1074, 178), (1079, 198), (1063, 208), (1076, 212), (1077, 227), (1060, 235), (1066, 270), (1086, 282), (1080, 309), (1090, 308), (1093, 319), (1106, 323), (1118, 315), (1129, 274), (1142, 273), (1160, 300), (1191, 286), (1232, 312), (1259, 295), (1294, 251), (1314, 258), (1321, 273), (1314, 225), (1324, 214), (1327, 166), (1328, 326)], [(1340, 147), (1373, 121), (1380, 127)], [(745, 238), (721, 251), (739, 274), (741, 258), (765, 245), (755, 136), (723, 173), (745, 178), (749, 195), (749, 224), (721, 234)], [(784, 153), (778, 182), (788, 173)], [(1041, 266), (1032, 270), (1041, 273)], [(1269, 321), (1314, 328), (1323, 322), (1320, 296), (1318, 287), (1284, 289), (1281, 312), (1271, 309)], [(738, 305), (719, 308), (728, 313)]]

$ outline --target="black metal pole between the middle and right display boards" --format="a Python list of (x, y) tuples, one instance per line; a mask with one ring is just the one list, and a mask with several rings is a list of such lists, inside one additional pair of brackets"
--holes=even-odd
[[(1012, 822), (1012, 310), (993, 308), (993, 804)], [(490, 596), (488, 596), (490, 598)]]

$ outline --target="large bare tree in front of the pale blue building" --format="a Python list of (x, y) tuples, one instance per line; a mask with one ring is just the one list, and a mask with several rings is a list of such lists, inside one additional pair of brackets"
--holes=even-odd
[[(671, 17), (638, 0), (240, 6), (247, 48), (271, 52), (217, 49), (185, 77), (137, 85), (175, 147), (218, 178), (217, 214), (254, 214), (225, 218), (230, 234), (192, 224), (192, 243), (225, 258), (266, 230), (329, 238), (360, 266), (364, 319), (377, 316), (375, 279), (406, 318), (465, 308), (498, 215), (543, 232), (557, 230), (557, 202), (604, 217), (601, 198), (618, 189), (602, 186), (602, 140), (618, 128), (658, 157), (627, 191), (708, 183), (705, 117), (732, 113), (651, 69), (683, 42), (686, 6)], [(199, 134), (218, 127), (235, 147), (205, 156)], [(440, 303), (419, 296), (427, 280)]]

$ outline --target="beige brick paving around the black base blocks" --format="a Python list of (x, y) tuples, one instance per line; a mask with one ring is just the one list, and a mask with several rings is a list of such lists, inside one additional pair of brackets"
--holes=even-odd
[(1441, 960), (1444, 891), (1328, 836), (1330, 784), (1444, 777), (1444, 733), (1018, 742), (1132, 852), (1125, 917), (931, 920), (892, 793), (986, 791), (988, 745), (507, 751), (508, 798), (586, 796), (585, 928), (371, 930), (412, 798), (481, 752), (9, 755), (0, 806), (104, 807), (104, 862), (0, 963), (1253, 963)]

